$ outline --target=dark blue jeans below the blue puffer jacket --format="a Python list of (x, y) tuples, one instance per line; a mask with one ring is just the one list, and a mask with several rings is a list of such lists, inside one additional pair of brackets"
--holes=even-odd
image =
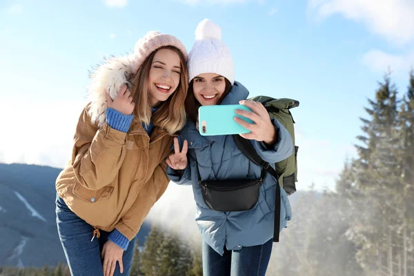
[(204, 276), (264, 276), (272, 253), (273, 240), (259, 246), (227, 250), (221, 257), (203, 242)]

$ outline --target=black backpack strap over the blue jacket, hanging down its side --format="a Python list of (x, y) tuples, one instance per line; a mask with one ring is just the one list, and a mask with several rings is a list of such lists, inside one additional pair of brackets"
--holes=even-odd
[[(267, 170), (270, 175), (275, 177), (276, 181), (279, 179), (279, 175), (277, 172), (268, 162), (264, 161), (262, 157), (260, 157), (253, 145), (247, 139), (244, 139), (240, 135), (233, 135), (233, 139), (235, 140), (237, 148), (243, 152), (244, 155), (250, 161), (252, 161), (257, 166), (261, 166), (264, 170)], [(279, 230), (280, 230), (280, 204), (282, 204), (280, 198), (280, 185), (279, 182), (276, 182), (276, 197), (275, 197), (275, 228), (273, 228), (273, 242), (279, 242)]]

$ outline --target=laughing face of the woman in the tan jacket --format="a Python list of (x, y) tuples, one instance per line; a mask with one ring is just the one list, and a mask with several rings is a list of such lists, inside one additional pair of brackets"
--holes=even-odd
[(152, 107), (160, 101), (166, 101), (177, 89), (181, 75), (180, 64), (179, 55), (173, 50), (166, 48), (155, 53), (148, 75)]

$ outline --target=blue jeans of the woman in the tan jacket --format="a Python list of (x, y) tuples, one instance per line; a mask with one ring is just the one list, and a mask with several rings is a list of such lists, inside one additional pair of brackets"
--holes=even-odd
[[(72, 276), (102, 276), (101, 250), (108, 241), (109, 232), (99, 230), (101, 237), (95, 237), (92, 242), (94, 228), (73, 213), (61, 197), (56, 198), (56, 222), (63, 251), (68, 261)], [(135, 238), (129, 243), (122, 255), (124, 273), (120, 273), (119, 264), (114, 275), (128, 276), (134, 255)]]

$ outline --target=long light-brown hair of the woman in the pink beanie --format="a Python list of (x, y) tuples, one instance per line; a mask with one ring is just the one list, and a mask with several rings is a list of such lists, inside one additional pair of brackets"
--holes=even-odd
[[(150, 105), (150, 91), (148, 89), (148, 76), (150, 75), (150, 68), (152, 59), (155, 53), (161, 49), (170, 49), (177, 52), (180, 59), (181, 74), (179, 84), (174, 93), (166, 101), (163, 101), (158, 106), (153, 115)], [(135, 103), (134, 115), (141, 121), (141, 123), (148, 126), (152, 119), (152, 124), (159, 126), (170, 135), (175, 134), (186, 124), (186, 110), (184, 102), (186, 100), (188, 90), (188, 70), (187, 62), (183, 53), (173, 46), (165, 46), (159, 48), (151, 53), (147, 59), (142, 63), (135, 76), (134, 85), (132, 88), (132, 99)], [(152, 117), (151, 117), (152, 116)]]

